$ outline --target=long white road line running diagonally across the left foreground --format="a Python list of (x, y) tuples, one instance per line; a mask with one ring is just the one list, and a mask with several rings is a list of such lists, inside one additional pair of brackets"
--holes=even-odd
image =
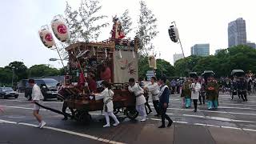
[[(36, 125), (30, 124), (30, 123), (10, 122), (10, 121), (6, 121), (6, 120), (2, 120), (2, 119), (0, 119), (0, 122), (10, 123), (10, 124), (18, 124), (18, 125), (24, 125), (24, 126), (32, 126), (32, 127), (36, 126)], [(110, 141), (109, 139), (98, 138), (98, 137), (95, 137), (95, 136), (89, 135), (89, 134), (82, 134), (82, 133), (78, 133), (78, 132), (74, 132), (74, 131), (70, 131), (70, 130), (58, 129), (58, 128), (50, 127), (50, 126), (44, 126), (44, 129), (55, 130), (55, 131), (66, 133), (66, 134), (73, 134), (73, 135), (77, 135), (77, 136), (84, 137), (84, 138), (90, 138), (90, 139), (94, 139), (94, 140), (99, 141), (99, 142), (125, 144), (125, 143), (122, 143), (122, 142)]]

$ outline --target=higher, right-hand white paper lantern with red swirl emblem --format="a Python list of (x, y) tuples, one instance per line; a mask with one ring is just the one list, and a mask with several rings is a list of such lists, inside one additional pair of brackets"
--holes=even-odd
[(62, 15), (56, 15), (51, 22), (51, 28), (54, 35), (61, 42), (66, 42), (70, 38), (70, 31), (66, 25), (65, 19)]

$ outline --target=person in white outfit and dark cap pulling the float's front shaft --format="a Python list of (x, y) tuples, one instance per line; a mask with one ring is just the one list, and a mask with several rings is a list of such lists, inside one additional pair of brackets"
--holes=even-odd
[(40, 87), (34, 83), (34, 79), (29, 79), (29, 85), (32, 86), (32, 103), (34, 103), (34, 108), (33, 108), (33, 114), (34, 117), (37, 118), (39, 125), (36, 126), (38, 128), (42, 128), (43, 126), (46, 126), (46, 122), (44, 122), (42, 120), (42, 116), (39, 115), (39, 110), (40, 110), (40, 106), (38, 106), (36, 103), (42, 105), (42, 99), (43, 99), (43, 95), (41, 92)]

